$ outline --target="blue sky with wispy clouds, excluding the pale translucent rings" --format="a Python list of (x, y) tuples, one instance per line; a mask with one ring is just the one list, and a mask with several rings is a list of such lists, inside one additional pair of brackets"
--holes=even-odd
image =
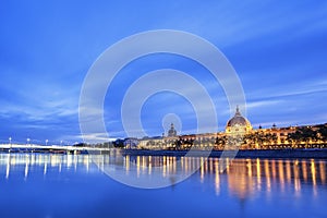
[[(93, 62), (124, 37), (162, 28), (196, 34), (225, 53), (242, 82), (254, 128), (327, 120), (326, 1), (2, 1), (0, 23), (0, 142), (80, 142), (80, 90)], [(209, 88), (205, 69), (157, 55), (126, 65), (108, 89), (110, 136), (124, 136), (120, 102), (129, 85), (160, 68), (203, 82), (219, 105), (223, 130), (228, 105), (222, 89)], [(182, 133), (194, 131), (190, 104), (160, 93), (142, 110), (146, 132), (160, 135), (170, 112), (179, 114)]]

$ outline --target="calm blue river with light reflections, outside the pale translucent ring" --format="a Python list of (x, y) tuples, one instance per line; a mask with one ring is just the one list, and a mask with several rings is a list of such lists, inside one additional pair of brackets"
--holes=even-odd
[[(108, 157), (101, 156), (104, 161)], [(173, 157), (126, 157), (137, 174)], [(184, 170), (198, 158), (183, 158)], [(210, 158), (165, 189), (126, 186), (88, 155), (0, 154), (0, 217), (327, 217), (326, 160), (234, 159), (220, 172)], [(129, 172), (126, 161), (122, 166)]]

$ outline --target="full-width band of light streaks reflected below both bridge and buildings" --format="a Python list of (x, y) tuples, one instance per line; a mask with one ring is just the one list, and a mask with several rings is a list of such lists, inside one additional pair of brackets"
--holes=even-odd
[[(316, 196), (317, 185), (326, 184), (326, 161), (315, 159), (225, 159), (221, 162), (218, 158), (202, 157), (0, 154), (0, 170), (7, 180), (11, 178), (11, 173), (17, 172), (23, 172), (24, 179), (28, 180), (40, 169), (44, 175), (50, 172), (49, 169), (51, 173), (61, 173), (63, 169), (76, 171), (81, 168), (87, 173), (92, 161), (101, 170), (108, 165), (118, 166), (126, 175), (132, 174), (130, 172), (135, 169), (137, 177), (152, 175), (158, 167), (164, 178), (198, 169), (193, 177), (198, 174), (201, 182), (213, 182), (217, 195), (227, 182), (223, 186), (240, 199), (262, 191), (269, 196), (272, 189), (301, 196), (304, 183), (312, 185)], [(225, 170), (223, 166), (227, 166)]]

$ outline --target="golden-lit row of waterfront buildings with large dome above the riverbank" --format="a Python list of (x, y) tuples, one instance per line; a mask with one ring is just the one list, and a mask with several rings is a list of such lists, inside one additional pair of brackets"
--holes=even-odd
[[(128, 138), (125, 147), (141, 149), (282, 149), (282, 148), (322, 148), (326, 147), (326, 136), (304, 138), (299, 136), (300, 129), (317, 131), (319, 128), (327, 129), (327, 124), (314, 126), (289, 126), (253, 129), (251, 122), (241, 114), (239, 107), (234, 116), (228, 120), (225, 132), (201, 133), (190, 135), (177, 135), (173, 123), (168, 130), (167, 136)], [(301, 131), (300, 131), (301, 132)], [(290, 137), (294, 135), (298, 137)], [(235, 137), (234, 137), (235, 136)], [(237, 143), (235, 143), (237, 142)]]

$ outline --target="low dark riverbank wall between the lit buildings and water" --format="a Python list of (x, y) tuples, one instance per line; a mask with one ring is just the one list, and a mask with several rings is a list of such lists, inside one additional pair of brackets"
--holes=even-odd
[[(144, 150), (144, 149), (123, 149), (123, 155), (131, 156), (193, 156), (207, 157), (208, 150)], [(234, 150), (226, 152), (234, 156)], [(220, 157), (222, 150), (211, 150), (209, 157)], [(265, 150), (239, 150), (235, 158), (318, 158), (327, 159), (327, 149), (265, 149)]]

